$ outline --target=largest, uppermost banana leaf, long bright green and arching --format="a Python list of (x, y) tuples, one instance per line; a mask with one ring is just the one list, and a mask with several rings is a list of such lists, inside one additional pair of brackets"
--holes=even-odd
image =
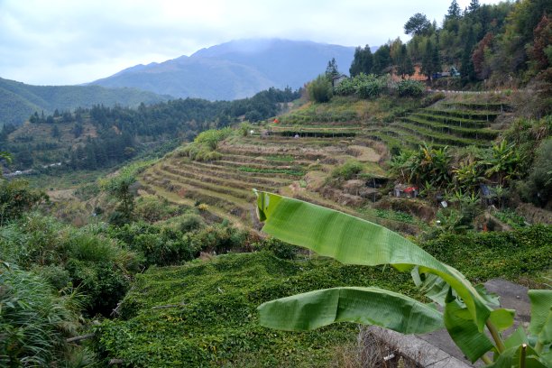
[(448, 283), (464, 300), (483, 331), (491, 308), (465, 276), (438, 262), (418, 245), (391, 230), (326, 207), (255, 191), (262, 231), (286, 243), (311, 249), (347, 264), (391, 264), (399, 271), (433, 273)]

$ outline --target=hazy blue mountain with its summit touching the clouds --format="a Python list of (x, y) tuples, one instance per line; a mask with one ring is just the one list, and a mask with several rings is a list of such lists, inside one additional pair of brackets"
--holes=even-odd
[(91, 84), (136, 87), (175, 97), (232, 100), (268, 87), (302, 87), (336, 58), (343, 72), (354, 47), (312, 41), (250, 39), (225, 42), (191, 56), (137, 65)]

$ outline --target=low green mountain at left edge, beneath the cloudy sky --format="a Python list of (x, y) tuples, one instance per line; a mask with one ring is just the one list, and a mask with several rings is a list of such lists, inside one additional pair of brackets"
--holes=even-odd
[(55, 109), (77, 107), (138, 106), (169, 99), (135, 88), (106, 88), (100, 86), (32, 86), (0, 78), (0, 126), (22, 124), (35, 111), (51, 114)]

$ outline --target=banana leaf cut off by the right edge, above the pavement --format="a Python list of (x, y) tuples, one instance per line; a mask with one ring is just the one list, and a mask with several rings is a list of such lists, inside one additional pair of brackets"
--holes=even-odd
[(529, 334), (542, 345), (552, 343), (552, 290), (529, 290), (531, 321)]

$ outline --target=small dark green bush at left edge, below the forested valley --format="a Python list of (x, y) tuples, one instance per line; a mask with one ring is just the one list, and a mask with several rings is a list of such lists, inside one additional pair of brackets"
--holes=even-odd
[(0, 226), (17, 219), (24, 212), (48, 200), (43, 192), (29, 188), (25, 180), (0, 179)]

